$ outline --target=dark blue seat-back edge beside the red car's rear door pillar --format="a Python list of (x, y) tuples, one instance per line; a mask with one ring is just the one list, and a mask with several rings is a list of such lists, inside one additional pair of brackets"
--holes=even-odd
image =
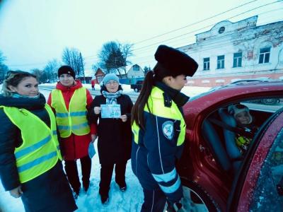
[(209, 119), (204, 120), (202, 124), (202, 133), (205, 141), (207, 141), (209, 149), (214, 155), (215, 160), (219, 163), (219, 165), (221, 165), (223, 170), (230, 172), (231, 162), (229, 160), (229, 156), (227, 155), (224, 145)]

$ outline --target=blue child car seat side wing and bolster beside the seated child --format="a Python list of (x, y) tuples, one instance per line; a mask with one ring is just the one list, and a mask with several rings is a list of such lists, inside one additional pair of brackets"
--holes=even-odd
[[(219, 116), (221, 118), (221, 121), (224, 122), (224, 124), (227, 124), (236, 129), (236, 119), (231, 114), (229, 114), (227, 108), (219, 109)], [(226, 152), (229, 155), (229, 158), (233, 165), (233, 172), (236, 173), (236, 171), (242, 164), (243, 158), (241, 151), (239, 150), (235, 142), (236, 134), (234, 131), (226, 129), (225, 127), (223, 128), (223, 133), (225, 139)]]

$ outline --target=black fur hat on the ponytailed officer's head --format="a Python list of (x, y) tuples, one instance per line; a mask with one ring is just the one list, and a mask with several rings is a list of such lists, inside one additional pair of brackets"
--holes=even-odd
[(178, 49), (160, 45), (154, 57), (161, 66), (168, 70), (168, 76), (193, 76), (197, 71), (198, 64), (189, 55), (180, 52)]

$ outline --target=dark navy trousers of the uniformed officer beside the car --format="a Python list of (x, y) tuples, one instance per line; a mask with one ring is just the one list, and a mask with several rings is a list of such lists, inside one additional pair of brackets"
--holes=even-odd
[(163, 212), (166, 204), (166, 196), (161, 189), (144, 190), (144, 204), (141, 206), (141, 212)]

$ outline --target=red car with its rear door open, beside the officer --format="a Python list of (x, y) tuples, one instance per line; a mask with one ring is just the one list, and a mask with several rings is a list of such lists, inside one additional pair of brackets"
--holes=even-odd
[[(229, 112), (237, 104), (249, 108), (258, 126), (241, 157), (233, 136), (244, 132)], [(283, 211), (283, 82), (214, 88), (183, 111), (186, 141), (177, 167), (185, 211)]]

